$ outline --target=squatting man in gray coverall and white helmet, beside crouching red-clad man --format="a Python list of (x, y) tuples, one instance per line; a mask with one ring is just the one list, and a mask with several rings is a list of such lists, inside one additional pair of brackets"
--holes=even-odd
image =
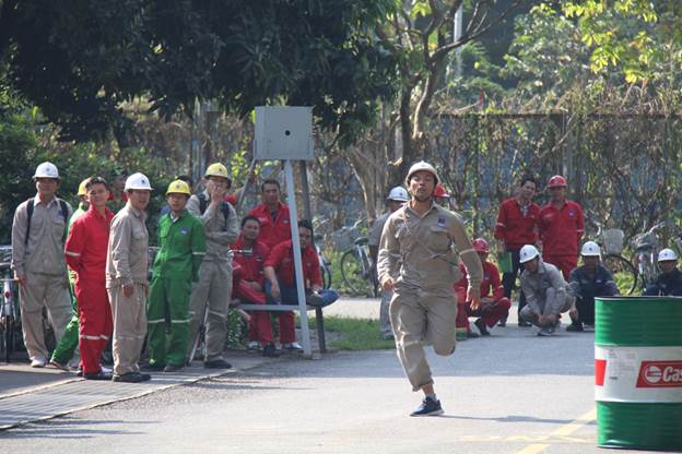
[(575, 301), (568, 285), (558, 268), (540, 259), (540, 252), (532, 244), (519, 251), (519, 262), (524, 264), (521, 290), (527, 306), (521, 309), (521, 320), (540, 327), (539, 336), (551, 336), (561, 325), (562, 312), (567, 312)]

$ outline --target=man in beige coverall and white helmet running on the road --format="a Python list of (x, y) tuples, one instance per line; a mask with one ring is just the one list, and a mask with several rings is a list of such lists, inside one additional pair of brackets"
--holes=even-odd
[[(461, 217), (434, 203), (436, 169), (414, 164), (405, 184), (411, 200), (390, 215), (381, 234), (378, 275), (384, 290), (392, 290), (390, 318), (398, 358), (413, 391), (424, 399), (410, 416), (435, 416), (443, 407), (434, 391), (424, 343), (437, 355), (455, 351), (459, 259), (469, 272), (467, 300), (477, 310), (483, 275), (481, 261), (467, 237)], [(396, 277), (393, 277), (396, 276)]]

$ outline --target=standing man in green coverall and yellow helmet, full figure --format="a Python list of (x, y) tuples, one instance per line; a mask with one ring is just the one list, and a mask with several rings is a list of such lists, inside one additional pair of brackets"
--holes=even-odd
[(149, 366), (146, 370), (175, 372), (185, 366), (189, 335), (189, 298), (199, 280), (205, 234), (199, 218), (185, 208), (189, 186), (175, 180), (166, 200), (170, 212), (158, 222), (158, 253), (154, 260), (146, 307)]

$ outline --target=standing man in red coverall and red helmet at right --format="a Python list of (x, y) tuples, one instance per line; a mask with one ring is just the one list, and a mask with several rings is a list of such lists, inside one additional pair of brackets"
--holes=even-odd
[(561, 270), (568, 280), (578, 266), (578, 249), (585, 234), (583, 207), (566, 200), (566, 179), (555, 175), (548, 181), (550, 203), (540, 208), (538, 228), (542, 242), (542, 261)]

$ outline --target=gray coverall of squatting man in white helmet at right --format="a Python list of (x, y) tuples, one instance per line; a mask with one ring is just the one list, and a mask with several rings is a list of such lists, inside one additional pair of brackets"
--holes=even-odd
[(567, 284), (558, 268), (551, 263), (538, 262), (538, 272), (521, 273), (521, 289), (528, 304), (521, 309), (520, 318), (538, 325), (536, 315), (552, 315), (566, 312), (575, 298), (568, 294)]

